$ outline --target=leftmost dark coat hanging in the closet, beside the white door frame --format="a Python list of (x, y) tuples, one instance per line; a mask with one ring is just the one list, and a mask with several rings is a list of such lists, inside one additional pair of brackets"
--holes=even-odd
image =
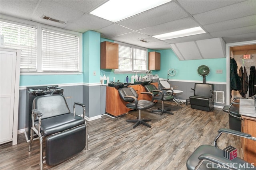
[(237, 64), (235, 59), (230, 60), (230, 90), (241, 90), (240, 78), (237, 74)]

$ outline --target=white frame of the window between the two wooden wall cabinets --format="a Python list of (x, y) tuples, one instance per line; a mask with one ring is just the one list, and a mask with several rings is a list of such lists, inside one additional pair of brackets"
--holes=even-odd
[[(115, 74), (123, 74), (123, 73), (145, 73), (146, 70), (148, 69), (148, 49), (144, 47), (139, 47), (136, 45), (131, 45), (131, 44), (126, 44), (118, 41), (114, 41), (114, 43), (118, 43), (118, 45), (126, 46), (132, 48), (132, 70), (131, 71), (125, 71), (125, 70), (117, 70), (114, 69)], [(140, 49), (140, 50), (145, 50), (146, 51), (146, 70), (134, 70), (134, 49)], [(119, 56), (118, 56), (119, 59)], [(119, 68), (118, 68), (119, 69)]]

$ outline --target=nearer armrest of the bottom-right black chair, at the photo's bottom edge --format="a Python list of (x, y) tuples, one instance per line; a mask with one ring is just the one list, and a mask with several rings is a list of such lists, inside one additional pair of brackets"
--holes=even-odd
[[(238, 168), (239, 166), (234, 166), (234, 165), (237, 165), (237, 164), (234, 164), (234, 162), (226, 159), (226, 158), (221, 158), (219, 156), (215, 156), (215, 155), (212, 155), (212, 154), (201, 154), (199, 157), (198, 157), (199, 160), (208, 160), (210, 162), (213, 162), (215, 164), (218, 164), (220, 166), (223, 166), (223, 167), (227, 167), (227, 168), (232, 168), (232, 170), (241, 170), (240, 168)], [(197, 167), (199, 168), (199, 166)], [(197, 169), (195, 168), (195, 169)]]

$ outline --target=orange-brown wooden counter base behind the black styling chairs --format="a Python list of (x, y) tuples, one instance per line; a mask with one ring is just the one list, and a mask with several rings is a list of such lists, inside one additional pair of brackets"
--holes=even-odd
[[(152, 83), (155, 86), (158, 87), (158, 83), (154, 82)], [(149, 94), (140, 94), (141, 92), (146, 92), (145, 88), (140, 84), (130, 85), (129, 87), (134, 88), (136, 92), (138, 93), (138, 100), (151, 100), (152, 97), (150, 97)], [(128, 102), (124, 102), (122, 98), (120, 98), (118, 90), (114, 87), (106, 87), (106, 113), (109, 113), (110, 115), (119, 116), (124, 113), (128, 113), (129, 110), (126, 107), (126, 104)]]

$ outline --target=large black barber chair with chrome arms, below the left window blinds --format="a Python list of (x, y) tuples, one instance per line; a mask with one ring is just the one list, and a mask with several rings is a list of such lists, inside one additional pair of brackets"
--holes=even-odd
[[(76, 115), (76, 105), (83, 108), (83, 117)], [(40, 170), (43, 169), (44, 162), (54, 166), (78, 154), (84, 148), (88, 149), (84, 104), (75, 102), (74, 113), (70, 113), (64, 96), (56, 94), (34, 98), (32, 108), (29, 152), (35, 132), (40, 141)], [(45, 157), (43, 140), (46, 145)]]

